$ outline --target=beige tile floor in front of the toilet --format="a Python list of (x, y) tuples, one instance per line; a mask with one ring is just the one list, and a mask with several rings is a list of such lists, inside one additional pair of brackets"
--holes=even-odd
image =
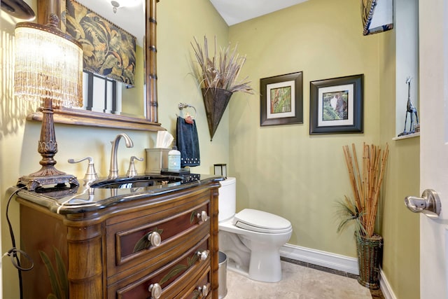
[(380, 290), (361, 286), (353, 274), (285, 260), (281, 267), (283, 278), (278, 283), (253, 281), (228, 270), (225, 299), (384, 299)]

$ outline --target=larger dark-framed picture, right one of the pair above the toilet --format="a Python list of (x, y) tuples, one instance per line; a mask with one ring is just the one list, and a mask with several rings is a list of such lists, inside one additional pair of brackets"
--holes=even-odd
[(364, 75), (311, 81), (309, 134), (363, 132)]

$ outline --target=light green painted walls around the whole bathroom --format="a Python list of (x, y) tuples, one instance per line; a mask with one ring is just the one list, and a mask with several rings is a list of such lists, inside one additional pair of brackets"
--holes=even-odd
[[(2, 12), (2, 21), (5, 18)], [(338, 17), (339, 16), (339, 17)], [(1, 34), (13, 31), (3, 26)], [(204, 26), (207, 24), (207, 26)], [(304, 123), (260, 127), (258, 95), (237, 93), (209, 140), (207, 118), (200, 91), (190, 76), (190, 42), (193, 36), (218, 43), (238, 43), (248, 61), (243, 74), (259, 90), (260, 78), (303, 71)], [(383, 269), (397, 298), (414, 299), (419, 293), (418, 218), (406, 211), (403, 197), (419, 192), (419, 141), (391, 141), (395, 134), (395, 56), (393, 31), (362, 36), (357, 0), (309, 0), (261, 18), (227, 27), (208, 0), (164, 0), (158, 3), (159, 120), (175, 135), (179, 102), (197, 109), (202, 163), (194, 172), (213, 173), (214, 163), (227, 163), (237, 177), (238, 209), (264, 209), (293, 223), (290, 244), (356, 256), (351, 231), (335, 231), (334, 203), (351, 194), (342, 146), (365, 141), (384, 145), (391, 154), (384, 183), (386, 198), (381, 216), (384, 236)], [(40, 123), (25, 122), (29, 108), (11, 97), (10, 67), (3, 50), (0, 117), (0, 193), (18, 177), (34, 172), (40, 156), (36, 144)], [(6, 57), (6, 58), (5, 58)], [(363, 134), (309, 135), (309, 82), (324, 78), (365, 74)], [(3, 83), (6, 82), (6, 83)], [(6, 99), (6, 100), (5, 100)], [(56, 125), (59, 153), (57, 167), (82, 177), (86, 165), (70, 165), (68, 158), (92, 155), (97, 170), (109, 169), (109, 141), (122, 130)], [(131, 155), (144, 155), (154, 146), (155, 134), (127, 131), (134, 148), (120, 146), (120, 170), (125, 172)], [(411, 161), (411, 162), (409, 162)], [(144, 163), (137, 162), (144, 171)], [(2, 252), (10, 249), (1, 198)], [(10, 217), (18, 237), (18, 204)], [(415, 260), (409, 263), (408, 260)], [(18, 297), (17, 272), (3, 259), (3, 297)], [(401, 275), (400, 275), (401, 273)], [(402, 275), (406, 273), (406, 275)]]

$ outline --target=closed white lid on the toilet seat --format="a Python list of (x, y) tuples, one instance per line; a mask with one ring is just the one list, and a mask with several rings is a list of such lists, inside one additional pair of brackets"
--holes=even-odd
[(291, 223), (285, 218), (255, 209), (244, 209), (235, 214), (233, 224), (238, 228), (254, 232), (275, 234), (291, 230)]

